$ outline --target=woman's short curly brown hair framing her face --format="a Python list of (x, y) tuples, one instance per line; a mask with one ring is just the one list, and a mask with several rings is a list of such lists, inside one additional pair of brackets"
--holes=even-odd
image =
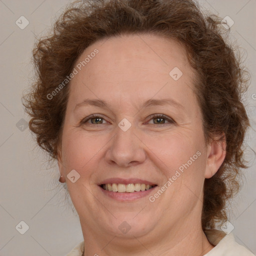
[[(226, 202), (238, 191), (240, 169), (247, 167), (242, 144), (248, 117), (241, 95), (248, 73), (239, 52), (223, 39), (224, 27), (215, 15), (203, 15), (192, 0), (93, 0), (71, 3), (53, 31), (33, 49), (36, 82), (23, 97), (31, 116), (29, 128), (51, 158), (58, 145), (68, 97), (68, 83), (54, 97), (83, 50), (93, 42), (122, 34), (151, 33), (172, 38), (187, 51), (197, 72), (195, 90), (203, 116), (205, 141), (226, 141), (226, 156), (218, 171), (204, 181), (202, 229), (227, 219)], [(62, 83), (63, 84), (63, 83)]]

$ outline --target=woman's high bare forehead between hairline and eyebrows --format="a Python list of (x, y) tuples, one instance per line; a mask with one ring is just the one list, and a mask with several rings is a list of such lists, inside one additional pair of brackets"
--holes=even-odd
[[(152, 34), (96, 41), (83, 51), (74, 68), (77, 74), (70, 82), (70, 97), (76, 101), (82, 100), (84, 93), (93, 98), (95, 94), (100, 98), (121, 96), (128, 101), (132, 97), (134, 102), (141, 95), (161, 97), (191, 90), (194, 78), (185, 48), (175, 40)], [(171, 77), (172, 70), (178, 76), (182, 74), (180, 79)]]

